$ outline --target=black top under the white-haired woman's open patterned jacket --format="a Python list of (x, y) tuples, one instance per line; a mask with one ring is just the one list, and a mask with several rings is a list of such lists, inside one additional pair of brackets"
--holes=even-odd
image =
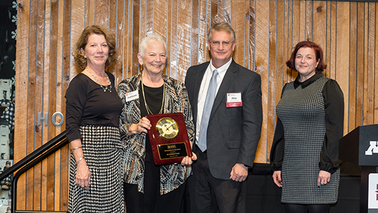
[[(146, 97), (148, 108), (151, 110), (153, 115), (159, 114), (160, 109), (162, 109), (162, 100), (164, 87), (147, 87), (143, 85), (144, 97)], [(140, 97), (140, 117), (149, 115), (146, 105), (144, 104), (144, 98), (142, 93), (142, 85), (139, 89)], [(155, 128), (152, 126), (151, 128)], [(150, 139), (146, 137), (146, 161), (153, 161), (153, 151), (151, 149)]]

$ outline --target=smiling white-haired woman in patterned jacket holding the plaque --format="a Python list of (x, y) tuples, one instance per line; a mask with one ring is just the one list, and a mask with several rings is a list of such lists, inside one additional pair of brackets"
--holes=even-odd
[(190, 146), (194, 140), (192, 110), (183, 83), (163, 74), (166, 43), (162, 36), (149, 34), (140, 43), (140, 74), (118, 85), (124, 108), (120, 116), (121, 139), (125, 142), (124, 194), (127, 212), (179, 212), (186, 179), (196, 155), (181, 164), (155, 165), (148, 130), (155, 128), (146, 115), (183, 113)]

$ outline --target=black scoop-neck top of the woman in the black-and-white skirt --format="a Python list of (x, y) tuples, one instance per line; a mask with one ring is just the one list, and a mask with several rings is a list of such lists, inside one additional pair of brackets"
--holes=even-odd
[[(111, 92), (86, 76), (78, 74), (69, 83), (66, 98), (66, 131), (69, 142), (80, 139), (80, 126), (120, 126), (122, 100), (114, 87), (114, 76), (107, 72)], [(107, 86), (110, 87), (109, 85)]]

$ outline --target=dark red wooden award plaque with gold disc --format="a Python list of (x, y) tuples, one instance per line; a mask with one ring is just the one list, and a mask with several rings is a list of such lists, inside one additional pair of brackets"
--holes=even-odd
[(148, 138), (156, 165), (180, 163), (184, 157), (192, 157), (182, 113), (146, 115), (146, 118), (152, 125)]

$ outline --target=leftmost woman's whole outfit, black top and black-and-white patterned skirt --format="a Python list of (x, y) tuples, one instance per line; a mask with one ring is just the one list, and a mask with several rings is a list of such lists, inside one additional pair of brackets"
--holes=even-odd
[[(107, 74), (114, 85), (114, 76)], [(85, 74), (78, 74), (69, 84), (66, 99), (67, 139), (81, 139), (91, 172), (89, 190), (76, 186), (76, 161), (71, 153), (68, 212), (124, 213), (124, 144), (118, 128), (123, 104), (117, 91), (114, 87), (111, 92), (104, 90)]]

